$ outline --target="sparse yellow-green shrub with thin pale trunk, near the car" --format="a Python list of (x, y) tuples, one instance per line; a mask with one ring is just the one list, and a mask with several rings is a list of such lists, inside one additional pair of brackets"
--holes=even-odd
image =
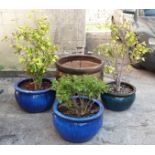
[[(116, 92), (120, 91), (122, 73), (132, 63), (145, 61), (144, 55), (151, 51), (145, 42), (139, 42), (136, 34), (131, 30), (130, 23), (124, 19), (120, 25), (112, 23), (111, 40), (109, 44), (100, 44), (95, 51), (103, 56), (106, 63), (104, 71), (113, 75), (116, 82)], [(127, 57), (131, 61), (127, 61)]]

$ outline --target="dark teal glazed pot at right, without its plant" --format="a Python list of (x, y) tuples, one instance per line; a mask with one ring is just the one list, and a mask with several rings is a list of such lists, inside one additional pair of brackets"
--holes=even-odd
[[(114, 82), (110, 82), (111, 84)], [(104, 93), (101, 94), (101, 99), (106, 109), (112, 111), (124, 111), (130, 108), (136, 97), (136, 88), (129, 83), (122, 82), (123, 84), (132, 88), (132, 92), (129, 94), (115, 94), (115, 93)]]

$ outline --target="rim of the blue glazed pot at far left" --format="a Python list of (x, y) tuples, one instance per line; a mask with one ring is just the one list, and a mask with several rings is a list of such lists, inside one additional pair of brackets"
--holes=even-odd
[[(32, 80), (32, 78), (24, 78), (24, 79), (21, 79), (21, 80), (18, 80), (17, 82), (15, 82), (15, 85), (14, 85), (15, 90), (19, 91), (19, 92), (22, 92), (22, 93), (25, 93), (25, 94), (41, 94), (41, 93), (46, 93), (46, 92), (52, 90), (51, 88), (42, 89), (42, 90), (26, 90), (26, 89), (22, 89), (22, 88), (19, 87), (19, 85), (21, 83), (29, 81), (29, 80)], [(52, 81), (52, 80), (50, 80), (48, 78), (43, 78), (43, 80)]]

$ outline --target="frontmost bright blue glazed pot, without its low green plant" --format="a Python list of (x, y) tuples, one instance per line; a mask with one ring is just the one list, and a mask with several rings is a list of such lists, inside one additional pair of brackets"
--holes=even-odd
[[(77, 96), (72, 97), (72, 99), (77, 98)], [(80, 96), (80, 98), (88, 99), (84, 96)], [(99, 111), (90, 117), (75, 118), (65, 116), (59, 112), (59, 101), (55, 100), (53, 105), (53, 123), (57, 132), (63, 139), (73, 143), (82, 143), (90, 140), (96, 135), (103, 125), (104, 107), (98, 100), (93, 99), (92, 101), (100, 107)]]

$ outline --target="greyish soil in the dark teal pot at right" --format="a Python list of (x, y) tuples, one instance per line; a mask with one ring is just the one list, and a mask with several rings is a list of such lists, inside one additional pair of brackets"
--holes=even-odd
[(131, 88), (129, 85), (126, 85), (124, 83), (121, 83), (120, 85), (120, 91), (118, 92), (116, 89), (116, 84), (115, 83), (110, 83), (109, 84), (109, 93), (115, 93), (115, 94), (129, 94), (133, 92), (133, 88)]

